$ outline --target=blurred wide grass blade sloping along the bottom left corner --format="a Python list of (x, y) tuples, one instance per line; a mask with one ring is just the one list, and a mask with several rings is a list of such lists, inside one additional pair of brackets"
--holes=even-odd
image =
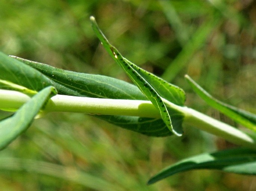
[(123, 190), (123, 188), (118, 185), (113, 185), (111, 182), (105, 181), (104, 179), (90, 175), (86, 172), (49, 162), (6, 157), (0, 158), (0, 169), (12, 171), (25, 170), (28, 173), (37, 173), (61, 178), (98, 191)]

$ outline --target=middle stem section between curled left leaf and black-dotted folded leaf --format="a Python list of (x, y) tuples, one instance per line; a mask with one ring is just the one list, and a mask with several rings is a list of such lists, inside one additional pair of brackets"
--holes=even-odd
[(88, 98), (67, 95), (56, 95), (52, 97), (46, 105), (45, 111), (160, 118), (160, 114), (150, 101)]

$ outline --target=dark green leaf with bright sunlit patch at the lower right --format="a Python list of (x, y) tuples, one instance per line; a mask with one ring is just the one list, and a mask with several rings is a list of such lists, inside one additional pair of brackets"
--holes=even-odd
[(236, 148), (189, 157), (163, 169), (150, 178), (148, 184), (193, 169), (218, 169), (225, 172), (256, 175), (256, 150)]

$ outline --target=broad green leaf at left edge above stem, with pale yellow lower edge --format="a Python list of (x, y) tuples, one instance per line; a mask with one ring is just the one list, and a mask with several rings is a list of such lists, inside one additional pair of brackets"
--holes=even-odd
[(51, 81), (39, 71), (0, 52), (0, 89), (12, 89), (34, 94)]

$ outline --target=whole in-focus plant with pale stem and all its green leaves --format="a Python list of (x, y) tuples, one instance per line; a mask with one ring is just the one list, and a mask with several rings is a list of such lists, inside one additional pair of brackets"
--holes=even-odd
[(207, 104), (242, 124), (245, 133), (185, 103), (185, 92), (129, 60), (108, 42), (95, 18), (92, 28), (102, 45), (136, 85), (107, 76), (58, 69), (0, 53), (0, 109), (15, 111), (0, 121), (0, 149), (24, 132), (37, 115), (53, 111), (83, 112), (148, 136), (182, 136), (190, 124), (240, 147), (184, 159), (153, 176), (152, 184), (191, 169), (220, 169), (256, 174), (256, 116), (210, 96), (189, 76), (185, 79)]

